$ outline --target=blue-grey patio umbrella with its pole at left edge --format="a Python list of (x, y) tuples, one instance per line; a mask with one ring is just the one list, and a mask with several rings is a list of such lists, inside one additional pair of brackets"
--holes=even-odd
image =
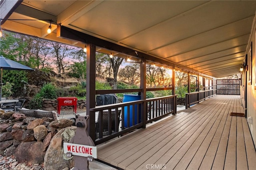
[(23, 64), (20, 64), (16, 61), (12, 61), (10, 59), (7, 59), (3, 57), (2, 55), (0, 56), (0, 69), (1, 69), (1, 83), (0, 83), (0, 101), (2, 101), (2, 75), (3, 75), (3, 70), (34, 70), (28, 66), (25, 66)]

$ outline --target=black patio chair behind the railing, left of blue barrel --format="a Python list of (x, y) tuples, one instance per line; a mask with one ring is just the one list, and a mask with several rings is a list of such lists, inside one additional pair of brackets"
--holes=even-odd
[[(117, 132), (115, 130), (115, 113), (116, 111), (111, 111), (111, 134)], [(108, 111), (102, 111), (103, 114), (103, 136), (108, 135)], [(121, 110), (118, 110), (118, 126), (120, 123)], [(100, 138), (100, 116), (98, 116), (98, 121), (96, 122), (96, 139)]]

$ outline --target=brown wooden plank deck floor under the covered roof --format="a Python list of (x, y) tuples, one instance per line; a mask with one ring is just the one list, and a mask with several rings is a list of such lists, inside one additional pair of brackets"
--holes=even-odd
[(254, 170), (256, 151), (240, 96), (217, 95), (106, 144), (98, 159), (125, 170)]

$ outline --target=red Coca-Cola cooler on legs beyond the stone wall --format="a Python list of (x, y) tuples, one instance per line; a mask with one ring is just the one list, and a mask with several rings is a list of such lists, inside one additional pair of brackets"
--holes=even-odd
[(59, 97), (58, 100), (58, 116), (61, 106), (73, 106), (73, 112), (76, 114), (77, 98), (76, 97)]

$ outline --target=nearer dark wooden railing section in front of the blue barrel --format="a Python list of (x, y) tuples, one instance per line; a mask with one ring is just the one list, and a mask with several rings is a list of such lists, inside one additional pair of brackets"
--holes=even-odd
[[(133, 102), (123, 102), (104, 106), (96, 106), (90, 109), (90, 114), (98, 114), (99, 132), (95, 128), (90, 128), (90, 134), (99, 133), (99, 138), (95, 139), (95, 145), (104, 143), (115, 137), (119, 137), (134, 129), (145, 128), (147, 123), (157, 121), (167, 115), (176, 114), (177, 96), (164, 96), (150, 98), (146, 100), (136, 100)], [(108, 135), (103, 136), (103, 111), (108, 110), (108, 120), (111, 120), (110, 113), (115, 110), (114, 132), (113, 121), (108, 121)], [(121, 127), (118, 123), (118, 110), (121, 110)]]

